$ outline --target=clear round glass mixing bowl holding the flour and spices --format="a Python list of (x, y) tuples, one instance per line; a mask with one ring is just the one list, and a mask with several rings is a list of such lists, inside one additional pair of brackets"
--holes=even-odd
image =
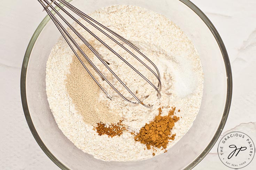
[(225, 46), (210, 20), (188, 0), (73, 0), (85, 13), (116, 4), (135, 5), (168, 17), (193, 41), (203, 65), (204, 90), (191, 129), (167, 153), (140, 162), (104, 162), (73, 145), (58, 128), (45, 90), (46, 61), (60, 36), (49, 17), (34, 32), (21, 72), (26, 120), (39, 146), (64, 170), (192, 169), (210, 151), (227, 120), (232, 95), (231, 67)]

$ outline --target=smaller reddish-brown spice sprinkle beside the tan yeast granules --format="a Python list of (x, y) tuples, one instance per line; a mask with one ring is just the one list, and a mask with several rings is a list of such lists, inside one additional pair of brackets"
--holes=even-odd
[(123, 131), (126, 129), (122, 124), (122, 121), (118, 122), (117, 124), (106, 125), (102, 122), (97, 123), (97, 126), (94, 127), (99, 134), (101, 135), (108, 135), (108, 137), (120, 136), (123, 134)]

